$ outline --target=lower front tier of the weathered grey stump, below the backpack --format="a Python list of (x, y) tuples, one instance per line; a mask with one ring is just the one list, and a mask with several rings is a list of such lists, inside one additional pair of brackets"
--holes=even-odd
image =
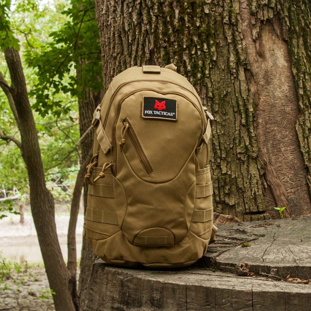
[(81, 311), (310, 310), (310, 285), (190, 267), (142, 271), (98, 260)]

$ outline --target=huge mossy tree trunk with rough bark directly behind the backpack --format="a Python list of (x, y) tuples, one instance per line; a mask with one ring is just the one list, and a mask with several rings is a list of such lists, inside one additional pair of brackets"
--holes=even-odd
[(174, 63), (214, 115), (214, 211), (279, 217), (278, 181), (292, 216), (311, 213), (309, 2), (95, 0), (95, 11), (105, 89), (128, 67)]

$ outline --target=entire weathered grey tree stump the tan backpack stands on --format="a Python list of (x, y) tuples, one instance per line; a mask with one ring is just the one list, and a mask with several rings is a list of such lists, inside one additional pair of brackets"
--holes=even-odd
[[(135, 270), (97, 260), (81, 311), (310, 310), (310, 282), (286, 280), (311, 279), (310, 227), (311, 217), (220, 225), (217, 242), (183, 269)], [(248, 276), (234, 274), (240, 262), (249, 264)]]

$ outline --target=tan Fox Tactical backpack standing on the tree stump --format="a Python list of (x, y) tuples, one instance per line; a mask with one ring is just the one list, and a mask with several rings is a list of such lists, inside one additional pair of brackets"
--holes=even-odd
[(96, 108), (83, 234), (124, 267), (184, 267), (215, 241), (213, 117), (174, 64), (132, 67)]

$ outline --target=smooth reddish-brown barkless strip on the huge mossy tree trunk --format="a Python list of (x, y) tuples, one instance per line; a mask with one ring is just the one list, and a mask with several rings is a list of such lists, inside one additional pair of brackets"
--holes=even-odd
[[(283, 6), (285, 8), (286, 6)], [(252, 19), (248, 0), (240, 0), (242, 33), (250, 73), (246, 75), (250, 95), (255, 99), (255, 132), (259, 144), (259, 157), (272, 167), (293, 215), (310, 211), (311, 199), (307, 183), (308, 171), (296, 131), (301, 117), (295, 78), (290, 62), (288, 31), (280, 12), (267, 8), (266, 16)], [(264, 13), (264, 11), (263, 11)], [(276, 180), (276, 179), (275, 179)], [(271, 183), (272, 182), (272, 183)], [(266, 208), (279, 206), (279, 197), (270, 179), (265, 196)], [(279, 206), (281, 207), (281, 206)], [(286, 209), (286, 213), (289, 208)], [(289, 215), (288, 215), (289, 216)]]

